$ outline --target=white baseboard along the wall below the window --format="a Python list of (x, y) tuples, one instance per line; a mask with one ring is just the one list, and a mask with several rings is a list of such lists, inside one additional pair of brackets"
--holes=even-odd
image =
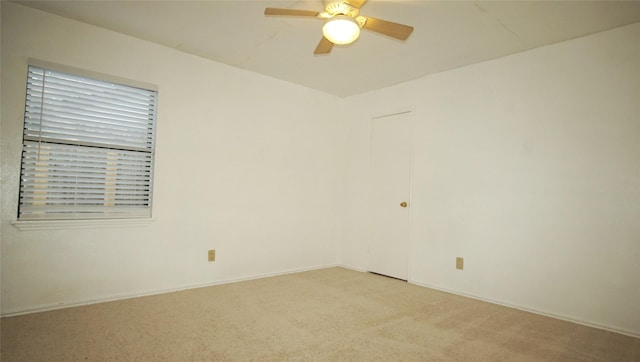
[(106, 296), (106, 297), (102, 297), (102, 298), (96, 298), (96, 299), (85, 300), (85, 301), (65, 302), (65, 303), (57, 303), (57, 304), (47, 304), (47, 305), (36, 306), (36, 307), (33, 307), (33, 308), (29, 308), (29, 309), (13, 310), (13, 311), (10, 310), (8, 312), (2, 313), (1, 317), (2, 318), (14, 317), (14, 316), (19, 316), (19, 315), (24, 315), (24, 314), (47, 312), (47, 311), (52, 311), (52, 310), (57, 310), (57, 309), (81, 307), (81, 306), (98, 304), (98, 303), (114, 302), (114, 301), (118, 301), (118, 300), (140, 298), (140, 297), (148, 297), (148, 296), (152, 296), (152, 295), (179, 292), (179, 291), (182, 291), (182, 290), (205, 288), (205, 287), (211, 287), (211, 286), (215, 286), (215, 285), (237, 283), (237, 282), (243, 282), (243, 281), (248, 281), (248, 280), (263, 279), (263, 278), (269, 278), (269, 277), (274, 277), (274, 276), (278, 276), (278, 275), (301, 273), (301, 272), (305, 272), (305, 271), (312, 271), (312, 270), (319, 270), (319, 269), (326, 269), (326, 268), (333, 268), (333, 267), (342, 267), (342, 265), (339, 265), (339, 264), (317, 265), (317, 266), (307, 267), (307, 268), (287, 269), (287, 270), (282, 270), (282, 271), (273, 272), (273, 273), (245, 275), (245, 276), (241, 276), (241, 277), (238, 277), (238, 278), (218, 280), (218, 281), (211, 282), (211, 283), (199, 283), (199, 284), (192, 284), (192, 285), (176, 287), (176, 288), (169, 288), (169, 289), (149, 290), (149, 291), (143, 291), (143, 292), (140, 292), (140, 293), (115, 294), (115, 295), (110, 295), (110, 296)]

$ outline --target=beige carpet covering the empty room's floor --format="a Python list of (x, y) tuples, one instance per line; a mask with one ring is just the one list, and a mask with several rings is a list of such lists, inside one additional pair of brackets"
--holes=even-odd
[(330, 268), (4, 318), (10, 361), (640, 361), (640, 339)]

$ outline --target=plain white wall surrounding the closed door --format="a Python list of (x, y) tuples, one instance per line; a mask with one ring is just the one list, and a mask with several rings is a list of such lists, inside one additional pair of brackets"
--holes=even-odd
[[(640, 335), (640, 24), (348, 99), (415, 108), (410, 280)], [(366, 269), (367, 191), (341, 262)], [(455, 269), (455, 258), (465, 269)]]

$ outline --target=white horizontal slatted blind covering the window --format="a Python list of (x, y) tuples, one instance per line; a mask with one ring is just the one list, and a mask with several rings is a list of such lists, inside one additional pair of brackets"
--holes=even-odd
[(151, 216), (157, 92), (29, 66), (18, 219)]

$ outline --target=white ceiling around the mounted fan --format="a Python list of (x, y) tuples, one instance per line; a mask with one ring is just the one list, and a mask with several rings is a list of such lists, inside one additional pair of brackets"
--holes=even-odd
[(313, 55), (322, 20), (264, 8), (320, 0), (16, 2), (340, 97), (640, 21), (640, 1), (369, 0), (361, 15), (412, 25), (407, 41), (365, 30)]

